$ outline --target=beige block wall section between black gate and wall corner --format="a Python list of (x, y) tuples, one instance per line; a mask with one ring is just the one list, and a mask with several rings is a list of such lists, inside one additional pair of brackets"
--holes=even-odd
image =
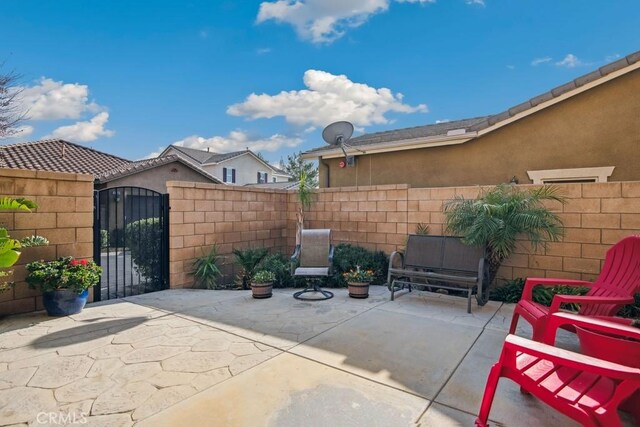
[(287, 251), (288, 193), (218, 184), (167, 182), (169, 273), (172, 288), (191, 287), (192, 264), (215, 243), (223, 257), (225, 283), (237, 268), (233, 249)]

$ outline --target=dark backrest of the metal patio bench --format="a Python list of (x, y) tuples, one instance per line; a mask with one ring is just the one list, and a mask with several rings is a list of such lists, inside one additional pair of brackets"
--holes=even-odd
[(404, 267), (477, 272), (484, 256), (484, 248), (465, 245), (459, 237), (411, 234)]

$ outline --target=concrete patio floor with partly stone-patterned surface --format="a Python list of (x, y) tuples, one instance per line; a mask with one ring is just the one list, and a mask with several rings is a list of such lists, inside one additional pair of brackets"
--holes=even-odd
[[(290, 289), (170, 290), (3, 319), (0, 425), (473, 425), (511, 306), (467, 314), (464, 298), (334, 291), (302, 302)], [(577, 425), (507, 380), (491, 419)]]

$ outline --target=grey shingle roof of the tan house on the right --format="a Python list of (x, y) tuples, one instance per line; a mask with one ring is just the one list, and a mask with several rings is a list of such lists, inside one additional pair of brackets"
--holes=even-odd
[[(543, 102), (550, 101), (551, 99), (557, 98), (571, 90), (584, 86), (587, 83), (591, 83), (595, 80), (605, 77), (608, 74), (613, 73), (614, 71), (618, 71), (620, 69), (628, 67), (629, 65), (633, 65), (636, 62), (640, 62), (640, 51), (627, 55), (624, 58), (600, 67), (599, 69), (592, 71), (591, 73), (578, 77), (570, 81), (569, 83), (565, 83), (563, 85), (555, 87), (548, 92), (535, 96), (519, 105), (516, 105), (515, 107), (511, 107), (508, 110), (498, 114), (476, 117), (472, 119), (450, 121), (445, 123), (436, 123), (425, 126), (417, 126), (413, 128), (395, 129), (386, 132), (364, 134), (350, 139), (347, 144), (354, 147), (362, 147), (371, 144), (379, 144), (385, 142), (393, 143), (395, 141), (399, 142), (414, 138), (446, 136), (448, 131), (454, 129), (465, 129), (467, 132), (477, 132), (493, 126), (496, 123), (507, 120), (531, 108), (534, 108)], [(306, 151), (306, 153), (322, 154), (322, 152), (333, 150), (334, 148), (335, 147), (333, 146), (324, 145), (322, 147), (308, 150)]]

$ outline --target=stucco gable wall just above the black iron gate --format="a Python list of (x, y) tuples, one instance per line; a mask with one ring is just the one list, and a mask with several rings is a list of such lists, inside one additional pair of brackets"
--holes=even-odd
[(167, 192), (167, 181), (211, 182), (206, 177), (182, 163), (173, 162), (113, 180), (106, 184), (96, 186), (96, 188), (103, 189), (123, 186), (143, 187), (164, 194)]

